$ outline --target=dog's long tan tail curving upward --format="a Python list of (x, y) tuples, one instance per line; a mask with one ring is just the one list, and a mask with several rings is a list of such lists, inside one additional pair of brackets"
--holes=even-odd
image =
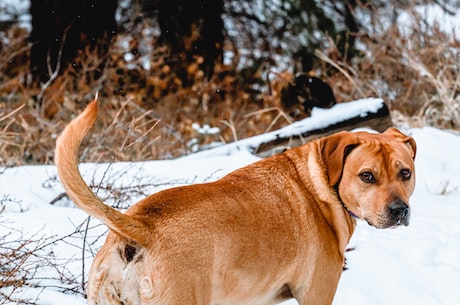
[(96, 121), (96, 116), (97, 102), (93, 101), (59, 136), (54, 157), (59, 178), (67, 195), (79, 208), (102, 221), (118, 235), (144, 245), (143, 232), (147, 225), (105, 205), (91, 191), (78, 170), (78, 148)]

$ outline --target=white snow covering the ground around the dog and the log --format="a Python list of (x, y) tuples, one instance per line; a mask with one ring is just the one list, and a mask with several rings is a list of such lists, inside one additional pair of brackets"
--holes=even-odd
[[(357, 113), (377, 111), (382, 100), (365, 99), (315, 109), (311, 118), (274, 133), (192, 154), (176, 160), (138, 163), (82, 164), (88, 183), (136, 189), (146, 193), (211, 181), (257, 161), (251, 152), (261, 142), (279, 134), (295, 133)], [(379, 106), (380, 105), (380, 106)], [(434, 128), (405, 130), (417, 142), (417, 185), (412, 196), (412, 217), (408, 227), (377, 230), (358, 222), (347, 252), (347, 267), (339, 282), (334, 305), (458, 305), (460, 304), (460, 136)], [(22, 166), (0, 169), (0, 237), (5, 242), (48, 238), (40, 250), (59, 267), (44, 266), (31, 286), (16, 291), (40, 305), (83, 305), (81, 294), (66, 291), (78, 287), (82, 278), (82, 243), (87, 215), (67, 199), (50, 202), (63, 192), (54, 166)], [(131, 187), (131, 188), (130, 188)], [(107, 188), (109, 189), (109, 188)], [(142, 198), (135, 192), (122, 208)], [(108, 192), (100, 190), (100, 196)], [(113, 198), (107, 202), (114, 203)], [(84, 278), (90, 261), (101, 246), (106, 228), (90, 221), (85, 247)], [(56, 240), (51, 243), (50, 241)], [(30, 244), (29, 247), (36, 247)], [(0, 247), (1, 248), (1, 247)], [(3, 250), (3, 248), (2, 248)], [(38, 257), (31, 257), (32, 262)], [(75, 283), (61, 281), (62, 275)], [(6, 288), (1, 290), (8, 292)], [(0, 300), (1, 304), (2, 301)], [(7, 303), (8, 304), (8, 303)], [(297, 304), (291, 300), (284, 305)]]

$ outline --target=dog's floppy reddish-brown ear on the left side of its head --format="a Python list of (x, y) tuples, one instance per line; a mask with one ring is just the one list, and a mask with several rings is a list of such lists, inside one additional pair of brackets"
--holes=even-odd
[(319, 140), (321, 157), (326, 167), (329, 185), (335, 187), (342, 177), (343, 165), (350, 151), (360, 139), (358, 134), (342, 131)]

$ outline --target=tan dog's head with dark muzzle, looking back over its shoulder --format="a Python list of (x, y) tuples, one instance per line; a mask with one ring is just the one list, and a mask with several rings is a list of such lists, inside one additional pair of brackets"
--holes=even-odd
[(409, 224), (415, 153), (414, 139), (396, 128), (341, 132), (321, 145), (330, 186), (352, 215), (377, 228)]

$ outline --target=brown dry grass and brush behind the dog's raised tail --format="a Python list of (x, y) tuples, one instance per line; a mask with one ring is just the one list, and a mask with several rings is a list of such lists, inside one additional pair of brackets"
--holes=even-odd
[[(247, 93), (234, 71), (209, 81), (191, 74), (193, 85), (184, 87), (165, 64), (156, 63), (161, 66), (156, 71), (143, 71), (135, 62), (123, 62), (122, 54), (117, 53), (121, 50), (111, 52), (97, 80), (92, 75), (100, 61), (86, 54), (78, 74), (69, 69), (38, 88), (26, 85), (27, 79), (11, 76), (0, 87), (4, 99), (0, 103), (0, 166), (52, 163), (57, 135), (96, 92), (100, 115), (84, 145), (85, 161), (185, 155), (192, 150), (190, 140), (199, 136), (194, 123), (220, 129), (218, 135), (203, 138), (201, 145), (230, 142), (285, 123), (277, 117), (281, 110), (259, 111), (276, 108), (275, 98), (268, 93)], [(132, 65), (135, 67), (129, 67)], [(28, 69), (27, 61), (22, 67)]]

